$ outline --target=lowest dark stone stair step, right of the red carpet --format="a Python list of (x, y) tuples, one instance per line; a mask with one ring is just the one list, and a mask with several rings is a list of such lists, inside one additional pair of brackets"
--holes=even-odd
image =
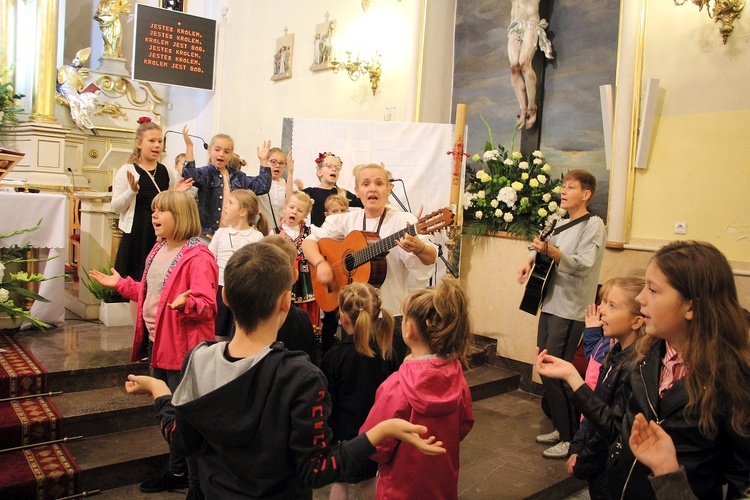
[(68, 448), (81, 467), (84, 491), (142, 482), (163, 473), (169, 460), (158, 426), (85, 438)]

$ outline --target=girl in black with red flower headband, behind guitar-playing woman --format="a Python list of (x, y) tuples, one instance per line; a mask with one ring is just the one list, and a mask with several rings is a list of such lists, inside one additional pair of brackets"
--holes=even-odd
[[(339, 172), (343, 167), (341, 158), (331, 152), (319, 153), (315, 159), (315, 175), (318, 176), (320, 184), (317, 187), (304, 188), (303, 191), (307, 193), (313, 200), (312, 212), (310, 214), (310, 222), (314, 226), (320, 227), (326, 220), (326, 200), (333, 194), (338, 194), (346, 197), (349, 200), (350, 207), (362, 208), (362, 201), (357, 198), (353, 193), (350, 193), (346, 189), (342, 189), (336, 185), (339, 179)], [(292, 182), (294, 174), (294, 164), (289, 165), (289, 182)], [(302, 189), (301, 183), (297, 183), (298, 187)], [(321, 351), (323, 354), (333, 346), (336, 342), (336, 331), (339, 327), (339, 315), (336, 310), (325, 313), (323, 316), (323, 323), (321, 328)]]

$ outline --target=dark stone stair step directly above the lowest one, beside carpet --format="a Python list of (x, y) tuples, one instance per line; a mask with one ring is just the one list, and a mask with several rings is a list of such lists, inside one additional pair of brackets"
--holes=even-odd
[(153, 399), (131, 396), (117, 387), (69, 392), (53, 401), (63, 416), (66, 436), (99, 436), (157, 424)]

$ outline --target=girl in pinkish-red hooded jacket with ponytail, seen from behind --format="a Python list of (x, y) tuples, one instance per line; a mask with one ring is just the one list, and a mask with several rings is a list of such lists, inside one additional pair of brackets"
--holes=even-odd
[(409, 295), (401, 307), (404, 342), (411, 348), (401, 368), (375, 394), (362, 425), (403, 418), (427, 425), (447, 453), (424, 457), (387, 439), (370, 458), (380, 464), (377, 498), (455, 499), (459, 446), (474, 425), (471, 395), (462, 371), (471, 345), (467, 299), (458, 282), (444, 279), (435, 289)]

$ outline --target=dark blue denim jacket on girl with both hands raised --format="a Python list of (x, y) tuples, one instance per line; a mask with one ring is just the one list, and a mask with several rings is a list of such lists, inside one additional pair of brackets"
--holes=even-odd
[[(229, 190), (250, 189), (255, 194), (266, 194), (271, 187), (271, 169), (261, 165), (257, 177), (251, 177), (241, 170), (227, 167)], [(201, 232), (213, 234), (219, 229), (221, 208), (224, 203), (224, 185), (219, 169), (213, 165), (196, 167), (195, 161), (186, 161), (182, 169), (185, 179), (193, 179), (198, 188), (198, 212), (201, 217)]]

